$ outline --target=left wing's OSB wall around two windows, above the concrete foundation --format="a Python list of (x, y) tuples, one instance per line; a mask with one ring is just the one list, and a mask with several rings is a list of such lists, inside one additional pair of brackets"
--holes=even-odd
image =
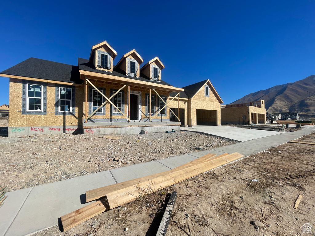
[[(36, 84), (36, 81), (34, 81)], [(9, 84), (9, 127), (25, 126), (81, 126), (83, 87), (76, 87), (75, 114), (55, 115), (55, 84), (47, 85), (47, 114), (46, 115), (22, 115), (22, 80), (10, 78)], [(62, 87), (63, 85), (60, 85)], [(65, 119), (65, 121), (64, 121)]]

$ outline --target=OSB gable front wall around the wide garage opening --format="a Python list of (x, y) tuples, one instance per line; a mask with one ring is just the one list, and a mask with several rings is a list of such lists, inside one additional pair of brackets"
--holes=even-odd
[[(209, 86), (210, 87), (210, 86)], [(216, 110), (216, 125), (221, 125), (221, 104), (218, 98), (215, 97), (210, 87), (209, 97), (204, 95), (204, 87), (202, 87), (198, 93), (191, 99), (191, 118), (188, 120), (188, 126), (196, 125), (196, 110)]]

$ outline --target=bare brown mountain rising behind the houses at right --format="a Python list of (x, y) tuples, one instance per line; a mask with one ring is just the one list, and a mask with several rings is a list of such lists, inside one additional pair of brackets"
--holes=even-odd
[(315, 117), (315, 75), (294, 83), (250, 93), (231, 104), (265, 100), (268, 112), (299, 112), (300, 116)]

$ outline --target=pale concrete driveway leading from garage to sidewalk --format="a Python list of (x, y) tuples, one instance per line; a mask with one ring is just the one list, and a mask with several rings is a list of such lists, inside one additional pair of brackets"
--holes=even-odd
[(194, 126), (180, 127), (180, 130), (204, 133), (218, 136), (221, 138), (229, 138), (239, 142), (245, 142), (252, 139), (263, 138), (279, 134), (277, 131), (242, 129), (233, 126)]

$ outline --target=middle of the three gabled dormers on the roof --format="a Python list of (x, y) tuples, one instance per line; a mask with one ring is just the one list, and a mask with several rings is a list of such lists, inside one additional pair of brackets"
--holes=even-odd
[(136, 52), (136, 50), (133, 49), (129, 53), (123, 55), (115, 68), (123, 70), (126, 73), (126, 76), (139, 77), (139, 68), (141, 63), (143, 63), (143, 59)]

